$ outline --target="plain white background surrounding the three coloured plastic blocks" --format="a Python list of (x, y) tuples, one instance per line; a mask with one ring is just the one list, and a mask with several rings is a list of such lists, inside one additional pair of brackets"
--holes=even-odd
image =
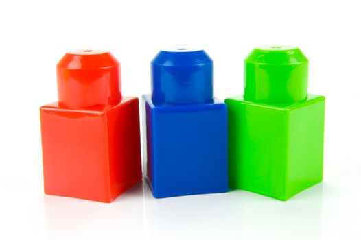
[[(1, 1), (0, 239), (360, 239), (360, 1)], [(55, 66), (109, 49), (123, 94), (150, 93), (161, 48), (201, 47), (215, 94), (243, 92), (257, 45), (297, 45), (309, 93), (325, 95), (325, 178), (288, 202), (232, 191), (152, 198), (139, 184), (111, 204), (43, 194), (38, 108), (56, 101)]]

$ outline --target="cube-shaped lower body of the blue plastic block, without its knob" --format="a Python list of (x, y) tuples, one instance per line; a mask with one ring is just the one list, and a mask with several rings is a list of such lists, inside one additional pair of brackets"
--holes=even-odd
[(226, 104), (154, 106), (143, 96), (146, 176), (156, 198), (228, 191)]

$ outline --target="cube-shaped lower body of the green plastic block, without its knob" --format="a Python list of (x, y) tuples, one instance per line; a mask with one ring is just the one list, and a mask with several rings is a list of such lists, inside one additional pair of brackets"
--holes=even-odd
[(325, 98), (266, 105), (226, 99), (229, 110), (229, 184), (288, 200), (322, 181)]

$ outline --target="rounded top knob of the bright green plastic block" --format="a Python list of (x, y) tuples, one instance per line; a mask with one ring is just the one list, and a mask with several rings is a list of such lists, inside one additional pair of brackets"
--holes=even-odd
[(244, 61), (244, 99), (290, 103), (307, 99), (308, 60), (298, 47), (257, 47)]

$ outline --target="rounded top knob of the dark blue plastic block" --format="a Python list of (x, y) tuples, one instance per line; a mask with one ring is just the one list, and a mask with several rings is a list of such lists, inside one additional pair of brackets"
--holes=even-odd
[(203, 50), (159, 51), (152, 60), (154, 104), (202, 104), (213, 101), (213, 60)]

